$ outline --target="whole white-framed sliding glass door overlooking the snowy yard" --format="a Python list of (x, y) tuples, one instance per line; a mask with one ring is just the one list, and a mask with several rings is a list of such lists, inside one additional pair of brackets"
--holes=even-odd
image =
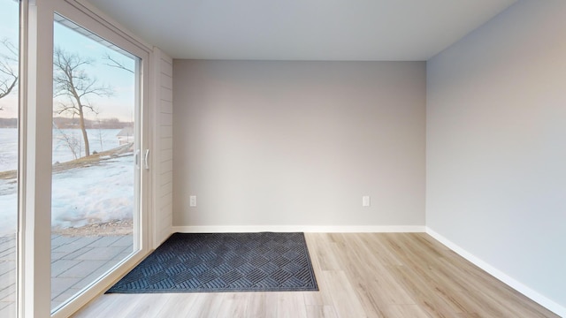
[(69, 316), (149, 252), (150, 52), (82, 2), (0, 0), (0, 317)]

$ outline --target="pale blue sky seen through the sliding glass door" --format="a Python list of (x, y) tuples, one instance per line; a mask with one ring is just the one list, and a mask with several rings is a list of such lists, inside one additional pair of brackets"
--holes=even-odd
[[(13, 0), (0, 0), (0, 39), (8, 39), (13, 44), (18, 43), (19, 9), (18, 3)], [(78, 54), (80, 57), (94, 60), (93, 64), (86, 65), (84, 70), (88, 76), (97, 80), (97, 83), (110, 86), (114, 90), (111, 97), (90, 96), (88, 102), (93, 102), (100, 110), (98, 117), (87, 114), (89, 119), (119, 118), (121, 121), (132, 121), (134, 117), (134, 74), (119, 68), (108, 66), (108, 61), (103, 59), (105, 53), (127, 68), (134, 70), (134, 58), (109, 49), (88, 37), (79, 34), (72, 29), (57, 22), (54, 25), (54, 46), (64, 49), (66, 52)], [(5, 50), (4, 50), (5, 51)], [(3, 52), (3, 48), (0, 49)], [(0, 117), (18, 116), (17, 91), (0, 99)], [(58, 102), (66, 102), (58, 99), (54, 102), (57, 110)], [(58, 115), (55, 115), (58, 116)]]

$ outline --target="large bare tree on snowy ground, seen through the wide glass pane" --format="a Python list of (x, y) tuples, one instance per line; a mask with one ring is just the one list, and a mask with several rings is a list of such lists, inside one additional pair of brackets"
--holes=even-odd
[(53, 52), (53, 89), (54, 96), (65, 96), (67, 100), (60, 102), (57, 114), (79, 117), (82, 140), (85, 144), (85, 155), (90, 155), (85, 113), (98, 114), (96, 107), (88, 101), (89, 96), (111, 96), (111, 87), (99, 85), (95, 78), (88, 76), (85, 66), (93, 64), (89, 58), (71, 54), (64, 49), (56, 48)]

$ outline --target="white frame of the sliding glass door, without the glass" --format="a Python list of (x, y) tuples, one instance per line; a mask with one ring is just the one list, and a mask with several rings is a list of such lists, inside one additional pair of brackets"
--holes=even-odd
[[(153, 132), (149, 113), (155, 108), (150, 83), (152, 48), (116, 27), (116, 23), (80, 0), (22, 0), (20, 44), (20, 199), (19, 199), (19, 317), (66, 317), (103, 293), (127, 270), (149, 254), (152, 180), (141, 168), (139, 249), (111, 272), (88, 285), (84, 292), (51, 313), (50, 207), (53, 110), (54, 14), (64, 16), (90, 32), (141, 58), (140, 148), (151, 149)], [(49, 140), (49, 142), (46, 142)], [(135, 239), (134, 239), (135, 242)], [(134, 244), (135, 246), (135, 244)]]

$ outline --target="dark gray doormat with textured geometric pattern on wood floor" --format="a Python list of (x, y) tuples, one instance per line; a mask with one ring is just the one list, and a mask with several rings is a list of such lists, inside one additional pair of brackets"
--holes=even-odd
[(174, 233), (106, 293), (317, 290), (303, 233)]

